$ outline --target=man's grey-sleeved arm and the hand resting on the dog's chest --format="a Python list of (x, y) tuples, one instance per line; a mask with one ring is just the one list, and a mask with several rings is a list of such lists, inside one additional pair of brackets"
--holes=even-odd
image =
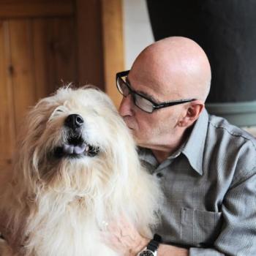
[[(191, 247), (188, 250), (176, 246), (161, 244), (158, 256), (224, 256), (256, 255), (256, 170), (239, 173), (227, 191), (222, 202), (222, 230), (212, 248)], [(124, 222), (125, 223), (125, 222)], [(110, 236), (115, 236), (116, 248), (122, 248), (123, 255), (134, 256), (149, 242), (149, 238), (140, 236), (135, 227), (125, 223)], [(128, 227), (128, 228), (127, 228)], [(109, 240), (110, 244), (112, 243)], [(113, 247), (113, 249), (116, 250)]]

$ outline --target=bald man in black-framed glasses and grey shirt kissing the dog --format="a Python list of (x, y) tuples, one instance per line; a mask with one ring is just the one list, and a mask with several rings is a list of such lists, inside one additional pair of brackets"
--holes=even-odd
[(116, 78), (124, 96), (119, 113), (165, 201), (160, 242), (125, 223), (124, 230), (112, 229), (113, 248), (121, 255), (255, 256), (256, 143), (205, 110), (206, 53), (191, 39), (169, 37), (149, 45)]

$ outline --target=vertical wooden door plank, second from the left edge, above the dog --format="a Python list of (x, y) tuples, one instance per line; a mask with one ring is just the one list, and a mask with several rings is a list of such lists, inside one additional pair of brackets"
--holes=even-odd
[(31, 20), (11, 20), (9, 23), (15, 124), (19, 127), (28, 107), (36, 101), (33, 35)]

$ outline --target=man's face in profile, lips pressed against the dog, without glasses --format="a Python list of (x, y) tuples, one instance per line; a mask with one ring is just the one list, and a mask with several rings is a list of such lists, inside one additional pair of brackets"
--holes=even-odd
[[(166, 95), (165, 91), (160, 89), (159, 82), (148, 75), (138, 75), (131, 70), (127, 82), (134, 91), (154, 102), (178, 99), (175, 93), (171, 95), (168, 92)], [(134, 104), (130, 94), (123, 97), (119, 107), (119, 113), (124, 118), (127, 127), (132, 130), (138, 145), (151, 149), (170, 143), (172, 137), (176, 135), (182, 110), (182, 105), (176, 105), (146, 113)]]

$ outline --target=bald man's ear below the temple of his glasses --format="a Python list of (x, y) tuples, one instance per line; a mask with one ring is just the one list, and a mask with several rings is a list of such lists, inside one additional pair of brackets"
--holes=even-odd
[(189, 127), (192, 125), (200, 116), (200, 113), (202, 113), (204, 107), (204, 102), (200, 101), (199, 99), (189, 103), (185, 116), (178, 121), (178, 126)]

